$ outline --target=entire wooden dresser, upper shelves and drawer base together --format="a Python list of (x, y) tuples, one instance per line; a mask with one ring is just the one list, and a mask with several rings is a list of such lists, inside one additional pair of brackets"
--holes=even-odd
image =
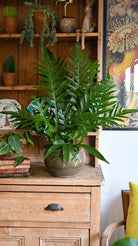
[[(58, 18), (63, 15), (62, 3), (55, 0), (40, 0), (49, 4)], [(62, 5), (62, 6), (61, 6)], [(18, 10), (18, 33), (3, 34), (3, 9), (14, 6)], [(19, 44), (25, 13), (24, 0), (0, 1), (0, 99), (16, 99), (27, 107), (31, 101), (26, 95), (39, 96), (35, 86), (34, 63), (40, 57), (39, 35), (35, 34), (34, 47), (25, 40)], [(85, 0), (74, 0), (68, 6), (68, 15), (76, 19), (76, 33), (59, 33), (57, 43), (50, 47), (56, 57), (68, 57), (76, 41), (82, 41), (81, 27), (84, 18)], [(95, 1), (96, 28), (85, 33), (85, 49), (91, 51), (90, 59), (100, 61), (102, 0)], [(16, 81), (12, 87), (3, 86), (3, 63), (13, 54), (16, 61)], [(0, 134), (7, 133), (0, 130)], [(16, 130), (14, 131), (16, 133)], [(35, 147), (24, 154), (32, 161), (43, 162), (40, 137), (34, 134)], [(98, 149), (98, 133), (89, 133), (85, 142)], [(43, 142), (44, 143), (44, 142)], [(75, 178), (52, 178), (42, 164), (32, 164), (29, 178), (0, 179), (0, 246), (98, 246), (100, 230), (100, 187), (103, 176), (97, 159), (86, 153), (86, 162)], [(44, 208), (51, 203), (63, 207), (60, 211)]]

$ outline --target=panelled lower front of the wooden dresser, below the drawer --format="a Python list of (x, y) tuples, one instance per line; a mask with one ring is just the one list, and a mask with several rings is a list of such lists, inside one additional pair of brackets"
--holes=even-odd
[(65, 231), (41, 228), (38, 232), (34, 228), (12, 228), (10, 232), (14, 236), (0, 236), (0, 246), (89, 246), (88, 230), (85, 229)]

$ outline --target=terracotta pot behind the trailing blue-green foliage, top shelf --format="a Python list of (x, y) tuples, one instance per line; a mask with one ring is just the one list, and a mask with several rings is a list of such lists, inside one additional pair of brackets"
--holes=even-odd
[[(33, 13), (34, 26), (36, 33), (41, 33), (43, 31), (43, 18), (44, 14), (42, 10), (35, 10)], [(50, 25), (50, 19), (46, 20), (46, 24)]]

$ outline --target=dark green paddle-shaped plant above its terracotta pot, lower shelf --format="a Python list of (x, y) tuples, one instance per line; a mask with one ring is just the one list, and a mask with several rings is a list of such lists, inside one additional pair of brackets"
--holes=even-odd
[(15, 73), (16, 64), (13, 55), (9, 55), (6, 57), (3, 67), (4, 73)]

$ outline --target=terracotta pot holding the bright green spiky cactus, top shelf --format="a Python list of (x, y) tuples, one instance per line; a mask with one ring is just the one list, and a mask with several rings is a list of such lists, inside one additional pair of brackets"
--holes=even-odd
[(6, 33), (8, 34), (17, 33), (17, 18), (4, 17), (4, 23), (5, 23)]

